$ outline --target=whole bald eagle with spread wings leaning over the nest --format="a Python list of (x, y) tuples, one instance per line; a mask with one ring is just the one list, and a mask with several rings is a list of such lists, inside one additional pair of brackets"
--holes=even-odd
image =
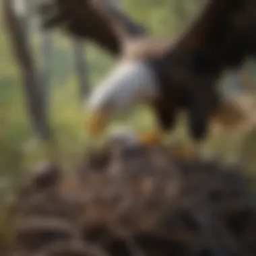
[[(86, 104), (91, 135), (98, 135), (115, 114), (146, 103), (164, 130), (174, 125), (180, 109), (187, 110), (193, 137), (204, 137), (210, 117), (226, 109), (216, 90), (220, 75), (255, 54), (253, 0), (208, 0), (176, 42), (149, 38), (109, 1), (48, 0), (41, 14), (45, 28), (62, 25), (121, 59)], [(158, 139), (158, 133), (154, 136)]]

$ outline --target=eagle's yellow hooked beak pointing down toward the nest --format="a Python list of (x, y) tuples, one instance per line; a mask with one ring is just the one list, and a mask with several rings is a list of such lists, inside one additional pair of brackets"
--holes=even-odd
[(86, 122), (86, 129), (88, 134), (93, 137), (100, 135), (104, 131), (107, 123), (108, 119), (104, 113), (91, 113), (88, 121)]

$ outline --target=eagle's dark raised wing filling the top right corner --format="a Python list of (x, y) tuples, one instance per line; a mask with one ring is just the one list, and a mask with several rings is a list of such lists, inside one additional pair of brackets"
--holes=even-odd
[(191, 53), (191, 63), (199, 68), (207, 63), (238, 67), (256, 53), (256, 1), (206, 0), (176, 49)]

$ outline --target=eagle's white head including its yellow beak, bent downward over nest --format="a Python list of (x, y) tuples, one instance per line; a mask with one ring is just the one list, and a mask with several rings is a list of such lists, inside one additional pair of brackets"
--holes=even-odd
[(135, 104), (148, 103), (158, 97), (154, 71), (143, 61), (123, 61), (86, 102), (90, 135), (98, 135), (110, 119)]

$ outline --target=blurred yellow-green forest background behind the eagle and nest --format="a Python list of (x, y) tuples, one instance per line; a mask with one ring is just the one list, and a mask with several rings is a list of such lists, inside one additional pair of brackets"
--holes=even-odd
[[(203, 1), (199, 0), (116, 0), (129, 15), (148, 28), (150, 34), (179, 36), (193, 19)], [(6, 189), (15, 188), (26, 177), (26, 170), (54, 154), (70, 169), (77, 164), (93, 141), (84, 127), (84, 99), (113, 68), (115, 59), (90, 42), (69, 38), (61, 30), (40, 28), (32, 0), (13, 0), (13, 13), (22, 27), (15, 35), (6, 26), (3, 1), (0, 1), (0, 198)], [(17, 31), (16, 31), (17, 32)], [(16, 36), (16, 37), (15, 37)], [(22, 44), (20, 44), (22, 40)], [(21, 62), (15, 51), (26, 47), (32, 63)], [(33, 79), (24, 79), (28, 68)], [(256, 63), (248, 61), (237, 72), (226, 73), (220, 84), (224, 94), (232, 94), (248, 109), (253, 109), (256, 90)], [(26, 81), (26, 82), (25, 82)], [(33, 84), (34, 83), (34, 84)], [(35, 92), (34, 85), (40, 85)], [(42, 104), (37, 104), (42, 102)], [(43, 111), (40, 111), (39, 105)], [(248, 106), (247, 106), (248, 105)], [(38, 115), (38, 113), (43, 113)], [(146, 107), (138, 107), (115, 121), (131, 125), (135, 131), (154, 126)], [(189, 141), (181, 116), (171, 141)], [(223, 162), (242, 163), (253, 171), (256, 163), (254, 126), (234, 133), (210, 135), (205, 148)], [(254, 135), (255, 133), (255, 135)], [(50, 138), (51, 146), (45, 142)], [(5, 194), (5, 193), (4, 193)]]

